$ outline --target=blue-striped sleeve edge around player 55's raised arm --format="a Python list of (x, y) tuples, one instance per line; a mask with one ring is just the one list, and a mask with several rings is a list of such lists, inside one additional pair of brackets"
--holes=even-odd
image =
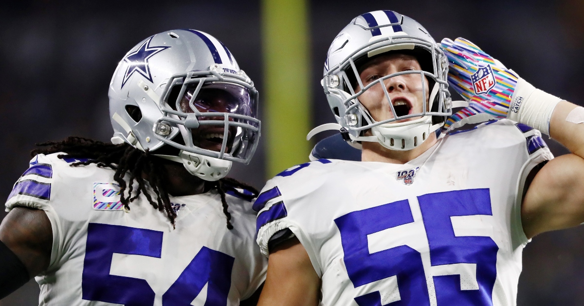
[(516, 199), (512, 212), (512, 237), (515, 246), (526, 244), (530, 241), (523, 232), (521, 205), (523, 196), (525, 195), (524, 191), (526, 191), (526, 187), (529, 187), (530, 184), (529, 177), (531, 170), (534, 170), (536, 167), (542, 167), (547, 161), (554, 159), (554, 155), (551, 153), (543, 138), (541, 138), (540, 131), (524, 124), (516, 124), (516, 126), (523, 133), (525, 139), (526, 159), (524, 159), (519, 178), (517, 179)]

